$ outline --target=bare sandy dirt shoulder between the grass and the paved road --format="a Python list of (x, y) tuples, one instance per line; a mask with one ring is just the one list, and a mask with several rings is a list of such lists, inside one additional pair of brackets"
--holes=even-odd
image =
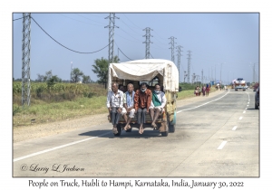
[[(181, 107), (191, 102), (197, 102), (200, 100), (208, 100), (224, 90), (216, 90), (209, 94), (209, 97), (193, 97), (185, 100), (178, 100), (177, 106)], [(33, 124), (32, 126), (21, 126), (13, 128), (13, 142), (20, 142), (33, 138), (42, 138), (45, 136), (51, 136), (63, 132), (72, 131), (77, 128), (87, 128), (96, 125), (102, 125), (108, 123), (108, 113), (97, 114), (92, 116), (83, 117), (80, 119), (61, 120), (45, 124)]]

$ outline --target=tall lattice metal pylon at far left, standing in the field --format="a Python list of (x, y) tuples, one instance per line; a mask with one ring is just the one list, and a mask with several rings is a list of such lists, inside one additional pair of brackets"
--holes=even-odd
[(22, 40), (22, 106), (30, 105), (30, 49), (31, 49), (31, 14), (23, 14)]

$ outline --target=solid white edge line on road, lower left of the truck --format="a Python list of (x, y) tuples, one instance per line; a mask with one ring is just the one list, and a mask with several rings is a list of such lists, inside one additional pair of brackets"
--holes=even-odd
[(99, 138), (99, 137), (108, 135), (110, 133), (112, 133), (112, 132), (103, 133), (102, 135), (92, 137), (92, 138), (85, 138), (85, 139), (82, 139), (82, 140), (74, 141), (72, 143), (68, 143), (66, 145), (62, 145), (62, 146), (59, 146), (59, 147), (52, 147), (52, 148), (45, 149), (45, 150), (40, 151), (40, 152), (36, 152), (36, 153), (30, 154), (30, 155), (26, 155), (24, 157), (17, 157), (17, 158), (14, 159), (14, 162), (25, 159), (25, 158), (28, 158), (28, 157), (34, 157), (34, 156), (37, 156), (37, 155), (41, 155), (41, 154), (44, 154), (45, 152), (50, 152), (50, 151), (53, 151), (53, 150), (56, 150), (56, 149), (59, 149), (59, 148), (62, 148), (62, 147), (68, 147), (68, 146), (75, 145), (75, 144), (78, 144), (78, 143), (81, 143), (81, 142), (84, 142), (84, 141), (87, 141), (87, 140), (92, 140), (94, 138)]

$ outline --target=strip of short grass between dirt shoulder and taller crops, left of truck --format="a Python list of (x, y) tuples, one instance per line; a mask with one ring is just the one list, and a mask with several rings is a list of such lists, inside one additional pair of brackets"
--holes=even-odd
[(106, 97), (80, 98), (73, 101), (41, 103), (29, 108), (14, 105), (13, 126), (28, 126), (57, 120), (81, 118), (88, 115), (106, 113)]

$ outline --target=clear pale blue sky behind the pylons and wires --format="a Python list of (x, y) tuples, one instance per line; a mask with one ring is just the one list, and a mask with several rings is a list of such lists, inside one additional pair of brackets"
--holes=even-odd
[[(52, 71), (63, 80), (70, 80), (71, 68), (79, 68), (92, 81), (97, 81), (92, 65), (96, 59), (108, 59), (108, 13), (31, 13), (31, 79)], [(174, 62), (180, 56), (180, 81), (188, 73), (201, 81), (229, 83), (243, 78), (258, 81), (259, 13), (115, 13), (114, 55), (120, 62), (145, 59), (146, 34), (151, 28), (151, 57), (171, 60), (171, 40), (174, 39)], [(13, 13), (13, 76), (22, 78), (22, 12)], [(39, 24), (46, 33), (35, 23)], [(67, 50), (63, 46), (72, 49)], [(98, 50), (101, 50), (96, 52)], [(94, 53), (78, 53), (94, 52)], [(73, 64), (71, 63), (73, 62)], [(187, 81), (187, 79), (185, 80)]]

